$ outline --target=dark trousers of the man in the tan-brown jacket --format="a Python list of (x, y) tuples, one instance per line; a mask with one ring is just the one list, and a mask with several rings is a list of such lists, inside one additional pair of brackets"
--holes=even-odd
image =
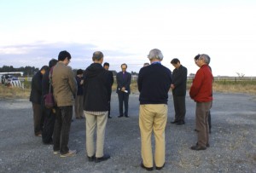
[(73, 107), (57, 107), (55, 117), (55, 128), (54, 128), (54, 151), (59, 151), (61, 154), (68, 153), (69, 148), (69, 131), (72, 121)]

